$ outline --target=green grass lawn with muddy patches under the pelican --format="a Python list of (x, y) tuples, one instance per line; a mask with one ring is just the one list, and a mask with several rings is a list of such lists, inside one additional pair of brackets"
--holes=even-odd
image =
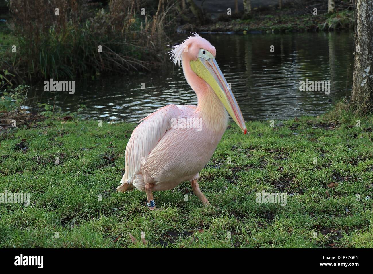
[[(355, 120), (248, 122), (248, 135), (231, 125), (200, 172), (211, 206), (184, 182), (154, 192), (154, 212), (144, 192), (115, 192), (134, 124), (47, 119), (10, 130), (0, 192), (31, 202), (0, 204), (0, 248), (373, 248), (373, 117)], [(257, 203), (262, 190), (286, 192), (286, 205)]]

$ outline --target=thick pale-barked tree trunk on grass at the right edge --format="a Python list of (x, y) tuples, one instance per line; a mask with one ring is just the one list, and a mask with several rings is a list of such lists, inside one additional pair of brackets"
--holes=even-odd
[(355, 0), (355, 63), (350, 109), (365, 114), (373, 107), (373, 1)]

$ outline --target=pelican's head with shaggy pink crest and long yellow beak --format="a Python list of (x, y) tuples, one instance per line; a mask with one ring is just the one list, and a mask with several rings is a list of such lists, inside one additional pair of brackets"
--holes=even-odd
[(236, 98), (216, 63), (215, 47), (195, 33), (194, 36), (188, 37), (181, 44), (175, 44), (169, 53), (173, 62), (175, 64), (179, 63), (179, 66), (181, 60), (189, 61), (193, 72), (211, 86), (229, 115), (241, 128), (242, 132), (246, 134), (247, 129), (244, 117), (242, 117)]

